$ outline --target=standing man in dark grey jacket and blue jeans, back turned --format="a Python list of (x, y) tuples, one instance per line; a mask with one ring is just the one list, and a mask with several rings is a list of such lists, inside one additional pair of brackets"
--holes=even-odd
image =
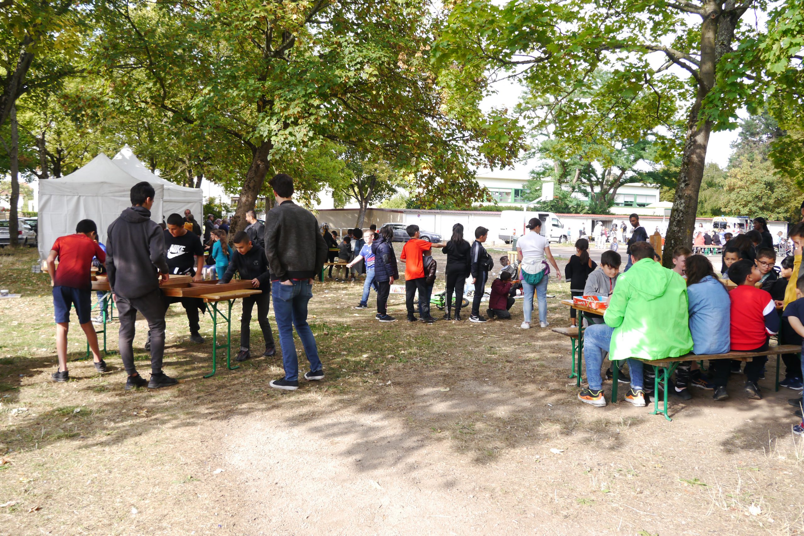
[[(265, 216), (265, 254), (271, 272), (273, 313), (277, 319), (285, 377), (272, 380), (275, 389), (298, 389), (298, 356), (293, 343), (296, 327), (310, 371), (308, 381), (324, 378), (313, 330), (307, 323), (307, 304), (313, 297), (313, 278), (326, 260), (326, 243), (318, 233), (315, 216), (293, 203), (293, 178), (277, 174), (269, 182), (277, 200)], [(259, 310), (259, 309), (258, 309)]]

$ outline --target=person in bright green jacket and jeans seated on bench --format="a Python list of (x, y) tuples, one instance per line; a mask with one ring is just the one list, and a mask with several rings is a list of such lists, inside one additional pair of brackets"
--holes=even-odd
[(675, 358), (692, 349), (684, 280), (654, 261), (650, 243), (631, 244), (631, 257), (631, 269), (617, 278), (609, 298), (605, 324), (589, 325), (584, 333), (589, 387), (578, 399), (597, 407), (606, 405), (600, 374), (606, 350), (611, 361), (628, 361), (631, 388), (626, 401), (643, 407), (643, 364), (636, 358)]

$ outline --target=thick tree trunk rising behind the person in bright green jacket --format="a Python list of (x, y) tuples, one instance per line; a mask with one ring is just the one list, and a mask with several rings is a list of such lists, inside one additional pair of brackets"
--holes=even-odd
[[(698, 211), (698, 192), (701, 180), (704, 178), (709, 133), (712, 132), (711, 121), (704, 121), (703, 124), (699, 125), (699, 113), (704, 97), (707, 96), (715, 84), (715, 68), (717, 65), (715, 45), (720, 19), (720, 2), (709, 0), (705, 6), (707, 13), (713, 16), (705, 18), (704, 23), (701, 24), (700, 68), (698, 72), (700, 82), (703, 84), (698, 84), (695, 104), (692, 105), (687, 118), (687, 134), (684, 139), (679, 181), (675, 187), (675, 199), (670, 213), (670, 222), (667, 226), (667, 235), (665, 235), (664, 251), (666, 252), (672, 252), (679, 246), (686, 246), (687, 248), (692, 246), (692, 231), (695, 228), (695, 215)], [(662, 265), (665, 268), (673, 268), (672, 256), (662, 256)]]

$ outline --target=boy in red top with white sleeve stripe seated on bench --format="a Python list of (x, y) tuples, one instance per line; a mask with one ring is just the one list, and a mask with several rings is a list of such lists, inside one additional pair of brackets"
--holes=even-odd
[[(776, 313), (776, 304), (765, 290), (754, 286), (762, 278), (757, 265), (751, 260), (738, 260), (728, 268), (728, 278), (737, 288), (728, 293), (732, 301), (730, 309), (731, 345), (732, 352), (761, 352), (768, 348), (768, 336), (779, 331), (779, 315)], [(745, 393), (749, 399), (762, 399), (757, 381), (762, 367), (768, 358), (765, 356), (753, 358), (745, 363)], [(728, 398), (726, 381), (728, 380), (731, 363), (726, 359), (716, 359), (711, 362), (712, 372), (715, 376), (714, 399)]]

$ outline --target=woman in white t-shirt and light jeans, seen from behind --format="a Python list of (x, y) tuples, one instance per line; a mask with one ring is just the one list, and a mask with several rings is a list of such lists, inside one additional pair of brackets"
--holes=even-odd
[(556, 260), (550, 252), (548, 239), (539, 234), (542, 229), (542, 222), (538, 218), (531, 218), (527, 223), (530, 231), (519, 237), (516, 242), (517, 259), (519, 260), (519, 277), (522, 280), (522, 288), (525, 293), (523, 297), (522, 309), (525, 315), (521, 327), (529, 329), (531, 327), (531, 313), (533, 313), (533, 294), (539, 300), (539, 325), (543, 328), (548, 327), (548, 274), (544, 273), (545, 260), (548, 260), (556, 270), (556, 278), (561, 280), (561, 272), (558, 269)]

